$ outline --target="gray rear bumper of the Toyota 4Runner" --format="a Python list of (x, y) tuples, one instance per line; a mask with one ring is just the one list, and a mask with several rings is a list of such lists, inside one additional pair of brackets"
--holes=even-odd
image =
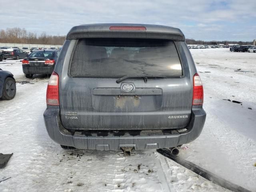
[[(169, 148), (192, 142), (202, 132), (206, 112), (202, 108), (193, 107), (191, 120), (186, 132), (170, 134), (139, 134), (136, 136), (88, 136), (83, 132), (70, 132), (62, 126), (58, 106), (48, 106), (44, 112), (44, 123), (47, 132), (58, 144), (80, 149), (120, 150), (121, 147), (134, 147), (135, 150)], [(95, 131), (94, 131), (95, 132)]]

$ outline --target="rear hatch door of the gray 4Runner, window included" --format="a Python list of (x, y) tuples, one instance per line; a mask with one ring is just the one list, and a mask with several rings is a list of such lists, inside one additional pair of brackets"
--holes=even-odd
[(60, 79), (62, 124), (71, 130), (184, 128), (192, 88), (171, 40), (80, 39), (68, 77)]

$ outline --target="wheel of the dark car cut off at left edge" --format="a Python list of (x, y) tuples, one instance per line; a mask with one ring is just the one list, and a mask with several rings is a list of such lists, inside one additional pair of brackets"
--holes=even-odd
[(16, 94), (16, 82), (13, 78), (6, 78), (3, 86), (3, 100), (11, 100)]

